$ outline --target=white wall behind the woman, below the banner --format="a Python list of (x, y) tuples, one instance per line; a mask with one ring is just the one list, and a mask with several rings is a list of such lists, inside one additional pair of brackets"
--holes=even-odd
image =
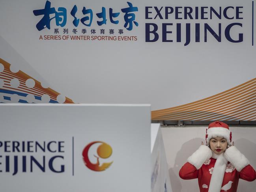
[[(230, 127), (235, 146), (256, 168), (256, 127)], [(172, 190), (175, 192), (198, 192), (197, 179), (183, 180), (179, 177), (179, 170), (187, 158), (205, 143), (206, 126), (162, 127), (164, 147)], [(239, 180), (237, 191), (255, 191), (256, 181)]]

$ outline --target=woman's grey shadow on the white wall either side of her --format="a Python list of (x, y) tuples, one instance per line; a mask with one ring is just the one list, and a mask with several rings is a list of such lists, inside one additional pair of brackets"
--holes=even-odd
[[(174, 167), (169, 169), (170, 180), (172, 185), (172, 191), (174, 192), (198, 192), (198, 180), (183, 180), (179, 177), (179, 170), (187, 162), (187, 158), (200, 147), (202, 142), (201, 138), (195, 138), (185, 142), (181, 150), (178, 151)], [(205, 141), (204, 141), (205, 144)], [(235, 146), (241, 153), (245, 155), (250, 161), (251, 166), (256, 168), (256, 144), (250, 142), (247, 139), (239, 139), (235, 141)], [(242, 179), (239, 180), (237, 191), (243, 192), (252, 192), (255, 191), (256, 188), (256, 180), (253, 182), (244, 181)]]

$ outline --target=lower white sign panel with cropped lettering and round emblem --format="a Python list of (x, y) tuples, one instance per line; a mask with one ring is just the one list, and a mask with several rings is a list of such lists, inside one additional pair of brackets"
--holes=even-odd
[(150, 191), (149, 105), (0, 108), (3, 191)]

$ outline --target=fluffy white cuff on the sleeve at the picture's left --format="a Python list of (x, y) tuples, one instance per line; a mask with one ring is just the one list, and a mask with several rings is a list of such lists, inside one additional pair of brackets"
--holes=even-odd
[(196, 169), (200, 169), (202, 164), (206, 162), (209, 158), (211, 158), (212, 152), (209, 147), (206, 145), (201, 145), (199, 149), (197, 149), (188, 159), (187, 161), (196, 167)]

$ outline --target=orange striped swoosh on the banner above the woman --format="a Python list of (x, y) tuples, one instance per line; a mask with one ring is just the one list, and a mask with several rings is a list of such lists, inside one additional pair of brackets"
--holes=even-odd
[(232, 89), (188, 104), (155, 110), (152, 120), (256, 120), (256, 78)]

